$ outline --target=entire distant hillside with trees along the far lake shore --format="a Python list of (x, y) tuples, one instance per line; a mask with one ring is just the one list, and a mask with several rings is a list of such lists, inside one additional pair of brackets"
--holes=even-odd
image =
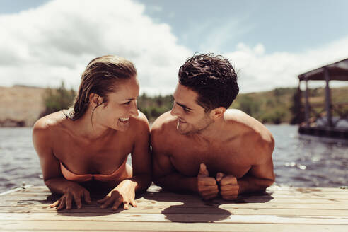
[[(300, 111), (295, 104), (296, 91), (296, 88), (276, 88), (273, 91), (239, 94), (231, 108), (243, 110), (263, 123), (296, 122), (294, 119), (298, 115), (301, 116), (298, 118), (303, 120), (303, 110)], [(66, 93), (69, 91), (62, 90), (62, 87), (57, 91), (28, 86), (0, 87), (0, 127), (32, 126), (40, 115), (50, 113), (50, 110), (57, 110), (62, 102), (69, 105), (71, 94)], [(324, 88), (311, 89), (310, 93), (313, 105), (324, 103)], [(332, 103), (348, 102), (348, 87), (332, 88), (331, 93)], [(302, 94), (304, 96), (304, 92)], [(44, 95), (45, 100), (43, 100)], [(172, 105), (173, 98), (170, 95), (150, 97), (143, 94), (138, 98), (139, 110), (144, 112), (151, 122), (163, 112), (170, 110)], [(315, 109), (318, 110), (319, 107)], [(348, 112), (347, 107), (342, 110)]]

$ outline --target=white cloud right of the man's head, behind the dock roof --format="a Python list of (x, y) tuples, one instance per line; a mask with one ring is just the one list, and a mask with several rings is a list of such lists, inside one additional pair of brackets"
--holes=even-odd
[[(237, 45), (235, 52), (224, 54), (239, 71), (240, 92), (257, 92), (277, 87), (298, 86), (298, 74), (348, 57), (348, 37), (323, 47), (299, 53), (274, 52), (265, 54), (261, 44), (248, 47)], [(333, 86), (347, 85), (334, 83)], [(323, 86), (311, 82), (311, 86)]]

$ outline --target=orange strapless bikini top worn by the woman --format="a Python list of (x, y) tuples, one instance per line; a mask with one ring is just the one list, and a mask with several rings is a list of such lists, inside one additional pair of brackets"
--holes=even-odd
[(110, 175), (71, 173), (71, 171), (69, 171), (62, 162), (60, 162), (60, 169), (62, 170), (62, 174), (66, 180), (71, 180), (75, 182), (87, 182), (89, 180), (99, 180), (102, 182), (108, 182), (112, 180), (121, 180), (122, 178), (127, 178), (127, 177), (124, 177), (125, 175), (127, 175), (126, 163), (127, 163), (127, 158), (124, 160), (121, 166), (117, 168)]

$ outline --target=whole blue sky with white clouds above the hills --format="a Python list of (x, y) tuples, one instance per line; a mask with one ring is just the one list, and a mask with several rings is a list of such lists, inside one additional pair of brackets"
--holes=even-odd
[(141, 93), (170, 94), (188, 57), (213, 52), (238, 71), (240, 93), (295, 87), (298, 74), (348, 58), (347, 8), (344, 0), (0, 0), (0, 86), (77, 89), (91, 59), (116, 54), (134, 62)]

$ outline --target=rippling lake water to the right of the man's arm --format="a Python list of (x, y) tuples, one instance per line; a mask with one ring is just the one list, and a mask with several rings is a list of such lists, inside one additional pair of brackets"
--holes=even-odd
[(348, 141), (300, 135), (296, 126), (267, 125), (274, 135), (276, 182), (299, 187), (348, 185)]

